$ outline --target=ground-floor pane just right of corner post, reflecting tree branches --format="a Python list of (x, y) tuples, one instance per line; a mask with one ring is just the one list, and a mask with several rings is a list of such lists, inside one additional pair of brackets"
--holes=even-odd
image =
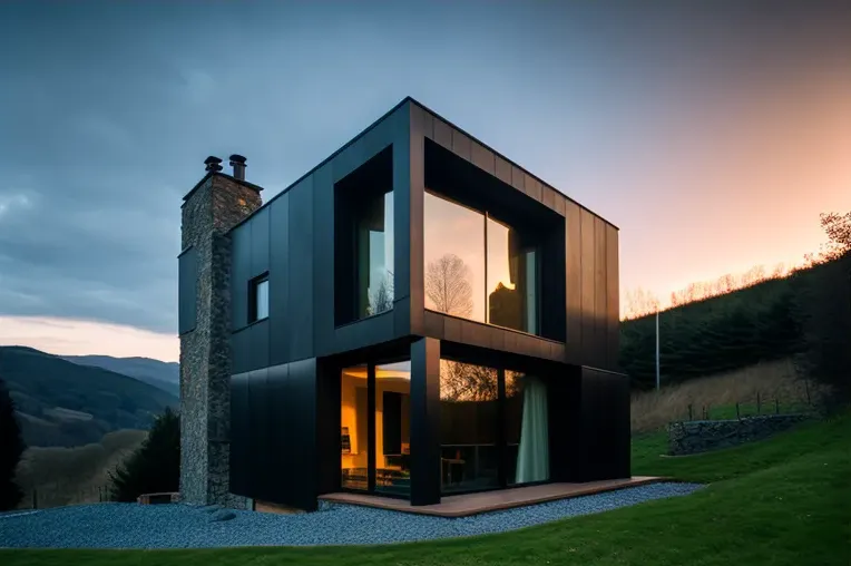
[(440, 361), (442, 491), (499, 487), (497, 370)]

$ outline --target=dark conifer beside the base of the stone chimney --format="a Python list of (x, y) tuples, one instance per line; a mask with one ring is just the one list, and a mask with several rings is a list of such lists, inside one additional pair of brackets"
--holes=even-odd
[(136, 501), (143, 494), (177, 491), (180, 486), (180, 420), (166, 408), (148, 438), (109, 472), (114, 501)]

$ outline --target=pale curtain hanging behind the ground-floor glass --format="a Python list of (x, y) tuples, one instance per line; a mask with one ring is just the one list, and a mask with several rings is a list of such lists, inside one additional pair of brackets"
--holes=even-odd
[(517, 484), (549, 479), (547, 386), (540, 378), (524, 379), (524, 416), (517, 451)]

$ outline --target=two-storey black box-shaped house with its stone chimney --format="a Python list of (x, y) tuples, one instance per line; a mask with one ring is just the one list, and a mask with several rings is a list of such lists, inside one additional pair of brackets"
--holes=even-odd
[(618, 230), (405, 98), (262, 204), (184, 197), (185, 500), (628, 478)]

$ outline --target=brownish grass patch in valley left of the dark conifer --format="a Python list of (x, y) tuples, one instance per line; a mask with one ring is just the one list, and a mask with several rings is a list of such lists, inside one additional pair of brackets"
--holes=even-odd
[(100, 442), (74, 448), (28, 448), (18, 466), (17, 480), (25, 492), (20, 507), (39, 508), (96, 502), (105, 495), (109, 470), (138, 448), (147, 432), (117, 430)]

